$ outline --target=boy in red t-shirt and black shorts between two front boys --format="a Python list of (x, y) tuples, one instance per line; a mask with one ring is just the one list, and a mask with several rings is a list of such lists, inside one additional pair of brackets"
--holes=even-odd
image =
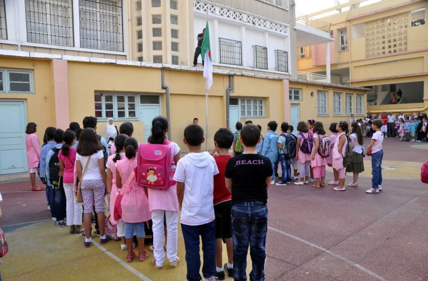
[[(233, 142), (233, 134), (228, 129), (219, 129), (214, 135), (215, 149), (218, 153), (214, 158), (218, 167), (218, 174), (214, 176), (214, 214), (215, 214), (215, 278), (224, 279), (224, 271), (233, 277), (233, 242), (230, 212), (232, 208), (232, 194), (227, 190), (224, 173), (229, 155), (229, 147)], [(227, 263), (222, 267), (222, 241), (226, 244)]]

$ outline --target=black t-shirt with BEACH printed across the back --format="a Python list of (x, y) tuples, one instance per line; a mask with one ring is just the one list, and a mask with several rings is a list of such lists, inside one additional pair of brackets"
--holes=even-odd
[(232, 179), (232, 205), (268, 202), (266, 178), (272, 176), (272, 164), (260, 154), (240, 154), (227, 162), (225, 176)]

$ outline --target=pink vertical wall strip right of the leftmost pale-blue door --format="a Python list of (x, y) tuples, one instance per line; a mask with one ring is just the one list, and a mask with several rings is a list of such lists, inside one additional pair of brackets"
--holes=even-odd
[(66, 60), (52, 60), (54, 77), (55, 117), (57, 128), (65, 130), (70, 124), (68, 108), (68, 69)]

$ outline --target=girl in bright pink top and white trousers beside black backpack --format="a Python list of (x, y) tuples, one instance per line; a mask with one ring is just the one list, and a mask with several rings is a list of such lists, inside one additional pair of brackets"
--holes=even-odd
[(74, 162), (76, 161), (76, 133), (67, 130), (62, 134), (61, 152), (58, 153), (60, 160), (60, 176), (62, 176), (65, 193), (65, 212), (67, 225), (70, 226), (70, 234), (81, 233), (82, 230), (82, 204), (76, 202), (74, 186)]

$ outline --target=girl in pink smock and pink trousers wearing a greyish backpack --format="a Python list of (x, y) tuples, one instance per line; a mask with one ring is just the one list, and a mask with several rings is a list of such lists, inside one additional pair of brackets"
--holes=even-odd
[(326, 178), (327, 157), (330, 155), (331, 144), (329, 137), (326, 136), (322, 122), (316, 121), (313, 124), (313, 132), (313, 148), (310, 163), (312, 164), (316, 183), (312, 186), (319, 188), (326, 186), (324, 180)]

